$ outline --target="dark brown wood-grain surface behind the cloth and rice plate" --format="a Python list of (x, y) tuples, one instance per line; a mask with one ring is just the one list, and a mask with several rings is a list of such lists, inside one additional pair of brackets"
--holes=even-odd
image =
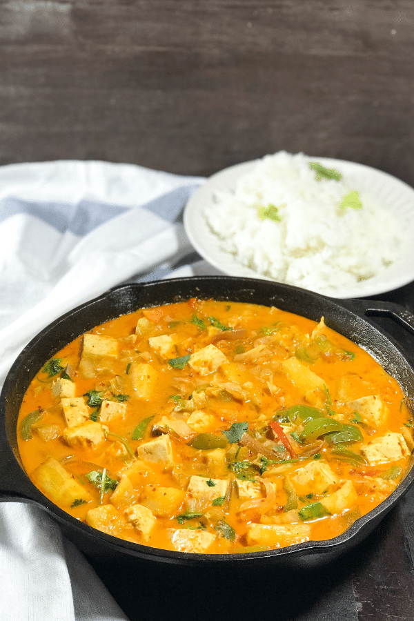
[(0, 1), (0, 164), (285, 149), (414, 185), (413, 29), (409, 0)]

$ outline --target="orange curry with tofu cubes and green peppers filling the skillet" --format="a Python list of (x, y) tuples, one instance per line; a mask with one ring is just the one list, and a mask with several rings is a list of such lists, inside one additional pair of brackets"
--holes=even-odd
[(31, 480), (78, 520), (214, 554), (343, 533), (402, 480), (412, 425), (396, 380), (323, 317), (190, 299), (64, 347), (18, 435)]

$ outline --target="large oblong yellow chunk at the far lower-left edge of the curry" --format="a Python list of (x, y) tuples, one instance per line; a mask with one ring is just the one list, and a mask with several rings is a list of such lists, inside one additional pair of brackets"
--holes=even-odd
[(75, 500), (90, 500), (90, 494), (83, 485), (52, 457), (38, 466), (32, 477), (41, 491), (61, 506), (70, 506)]

